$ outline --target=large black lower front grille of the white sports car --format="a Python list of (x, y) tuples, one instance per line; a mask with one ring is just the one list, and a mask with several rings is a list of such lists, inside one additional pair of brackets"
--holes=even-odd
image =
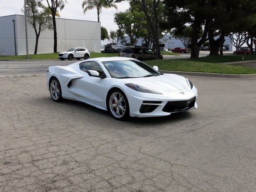
[(191, 108), (194, 108), (196, 102), (196, 97), (186, 100), (186, 101), (168, 101), (168, 103), (163, 108), (163, 112), (183, 112)]

